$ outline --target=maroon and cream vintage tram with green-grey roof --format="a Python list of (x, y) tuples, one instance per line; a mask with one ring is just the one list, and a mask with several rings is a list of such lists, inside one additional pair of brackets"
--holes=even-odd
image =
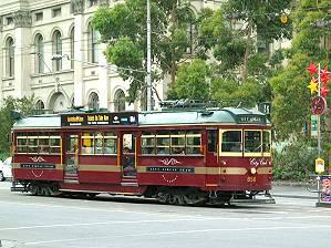
[(12, 190), (272, 202), (270, 128), (265, 114), (236, 107), (30, 116), (12, 127)]

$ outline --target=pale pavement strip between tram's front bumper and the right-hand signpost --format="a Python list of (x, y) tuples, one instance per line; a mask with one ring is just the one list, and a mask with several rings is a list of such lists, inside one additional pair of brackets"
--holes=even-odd
[[(307, 184), (273, 182), (270, 194), (273, 197), (317, 199), (318, 194), (309, 192), (307, 186)], [(317, 190), (313, 186), (310, 186), (310, 189)]]

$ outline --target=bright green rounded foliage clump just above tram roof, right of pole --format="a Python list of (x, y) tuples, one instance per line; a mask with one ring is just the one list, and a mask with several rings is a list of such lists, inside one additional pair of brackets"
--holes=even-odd
[(170, 86), (168, 99), (208, 100), (208, 76), (210, 71), (203, 60), (183, 64), (178, 70), (177, 82)]

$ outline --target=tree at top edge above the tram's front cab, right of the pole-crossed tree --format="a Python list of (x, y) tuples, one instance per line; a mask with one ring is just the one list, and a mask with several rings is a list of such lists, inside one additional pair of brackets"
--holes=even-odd
[(244, 81), (266, 72), (249, 70), (249, 64), (261, 59), (255, 55), (259, 43), (291, 38), (291, 19), (286, 23), (280, 20), (291, 9), (291, 3), (292, 0), (229, 0), (223, 3), (213, 21), (204, 23), (206, 27), (201, 29), (214, 40), (214, 56), (221, 61), (220, 71), (240, 71)]

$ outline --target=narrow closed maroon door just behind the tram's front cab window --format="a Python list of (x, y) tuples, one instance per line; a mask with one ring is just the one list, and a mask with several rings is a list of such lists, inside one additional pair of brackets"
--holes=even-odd
[[(218, 176), (214, 176), (218, 173), (218, 132), (217, 128), (207, 130), (207, 147), (206, 147), (206, 186), (217, 186)], [(213, 175), (214, 174), (214, 175)]]

